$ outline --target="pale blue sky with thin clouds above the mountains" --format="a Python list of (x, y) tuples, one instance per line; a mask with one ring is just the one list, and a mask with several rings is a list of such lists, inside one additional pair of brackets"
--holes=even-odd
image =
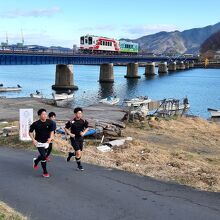
[(0, 0), (0, 42), (70, 47), (82, 35), (136, 39), (220, 22), (220, 0)]

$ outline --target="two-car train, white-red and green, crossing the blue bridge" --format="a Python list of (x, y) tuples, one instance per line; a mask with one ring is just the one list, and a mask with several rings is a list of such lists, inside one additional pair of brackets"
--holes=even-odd
[(80, 37), (80, 52), (104, 54), (138, 54), (138, 43), (114, 38), (85, 35)]

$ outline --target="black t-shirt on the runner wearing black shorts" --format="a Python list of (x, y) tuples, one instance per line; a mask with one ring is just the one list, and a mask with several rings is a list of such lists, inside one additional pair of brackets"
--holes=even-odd
[(76, 118), (74, 118), (72, 121), (68, 121), (66, 123), (66, 127), (67, 129), (70, 128), (71, 133), (75, 134), (76, 138), (80, 138), (80, 132), (83, 132), (86, 128), (88, 128), (88, 121), (83, 120), (83, 119), (79, 119), (77, 120)]

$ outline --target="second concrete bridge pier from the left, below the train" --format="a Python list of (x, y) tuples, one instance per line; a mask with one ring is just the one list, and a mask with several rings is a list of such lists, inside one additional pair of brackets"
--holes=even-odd
[(100, 83), (113, 83), (114, 82), (113, 63), (101, 64), (99, 82)]

